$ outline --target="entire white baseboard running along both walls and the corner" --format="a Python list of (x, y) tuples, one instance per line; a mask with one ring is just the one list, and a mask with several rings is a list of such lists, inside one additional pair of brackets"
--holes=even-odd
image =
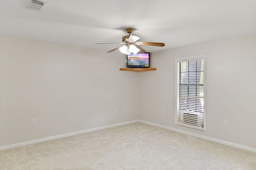
[(77, 131), (77, 132), (73, 132), (73, 133), (66, 133), (66, 134), (63, 134), (63, 135), (56, 135), (56, 136), (52, 136), (52, 137), (46, 137), (46, 138), (42, 138), (42, 139), (36, 139), (36, 140), (33, 140), (33, 141), (16, 143), (16, 144), (13, 144), (13, 145), (6, 145), (6, 146), (0, 147), (0, 150), (11, 149), (11, 148), (21, 147), (21, 146), (25, 146), (25, 145), (31, 145), (31, 144), (40, 143), (40, 142), (44, 142), (44, 141), (50, 141), (50, 140), (54, 140), (54, 139), (60, 139), (60, 138), (63, 138), (63, 137), (79, 135), (79, 134), (82, 134), (82, 133), (98, 131), (98, 130), (101, 130), (101, 129), (107, 129), (107, 128), (110, 128), (110, 127), (116, 127), (116, 126), (126, 125), (126, 124), (130, 124), (130, 123), (135, 123), (135, 122), (146, 123), (148, 125), (153, 125), (153, 126), (156, 126), (156, 127), (161, 127), (163, 129), (168, 129), (168, 130), (171, 130), (171, 131), (175, 131), (175, 132), (178, 132), (178, 133), (183, 133), (183, 134), (198, 137), (198, 138), (201, 138), (201, 139), (206, 139), (208, 141), (221, 143), (221, 144), (228, 145), (228, 146), (235, 147), (235, 148), (239, 148), (239, 149), (249, 150), (251, 152), (256, 152), (255, 148), (250, 148), (250, 147), (246, 147), (246, 146), (243, 146), (243, 145), (238, 145), (238, 144), (235, 144), (235, 143), (230, 143), (230, 142), (227, 142), (227, 141), (222, 141), (222, 140), (219, 140), (219, 139), (206, 137), (206, 136), (203, 136), (203, 135), (198, 135), (196, 133), (191, 133), (191, 132), (188, 132), (188, 131), (183, 131), (183, 130), (180, 130), (180, 129), (175, 129), (175, 128), (172, 128), (172, 127), (159, 125), (159, 124), (156, 124), (156, 123), (151, 123), (151, 122), (142, 121), (142, 120), (127, 121), (127, 122), (123, 122), (123, 123), (117, 123), (117, 124), (114, 124), (114, 125), (96, 127), (96, 128), (93, 128), (93, 129), (87, 129), (87, 130)]

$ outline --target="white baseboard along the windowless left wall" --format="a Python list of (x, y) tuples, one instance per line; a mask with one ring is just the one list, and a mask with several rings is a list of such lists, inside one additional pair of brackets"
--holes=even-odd
[(62, 134), (62, 135), (56, 135), (56, 136), (52, 136), (52, 137), (36, 139), (36, 140), (33, 140), (33, 141), (26, 141), (26, 142), (22, 142), (22, 143), (16, 143), (16, 144), (12, 144), (12, 145), (6, 145), (6, 146), (0, 147), (0, 150), (16, 148), (16, 147), (21, 147), (21, 146), (25, 146), (25, 145), (31, 145), (31, 144), (35, 144), (35, 143), (44, 142), (44, 141), (60, 139), (60, 138), (63, 138), (63, 137), (70, 137), (70, 136), (79, 135), (79, 134), (82, 134), (82, 133), (98, 131), (98, 130), (101, 130), (101, 129), (107, 129), (107, 128), (110, 128), (110, 127), (116, 127), (116, 126), (126, 125), (126, 124), (130, 124), (130, 123), (135, 123), (135, 122), (138, 122), (138, 120), (127, 121), (127, 122), (123, 122), (123, 123), (117, 123), (117, 124), (114, 124), (114, 125), (107, 125), (107, 126), (102, 126), (102, 127), (96, 127), (96, 128), (92, 128), (92, 129), (83, 130), (83, 131), (66, 133), (66, 134)]

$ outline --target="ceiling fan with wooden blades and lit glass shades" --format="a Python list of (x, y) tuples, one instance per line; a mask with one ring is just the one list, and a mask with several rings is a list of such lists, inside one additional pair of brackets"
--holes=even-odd
[(164, 47), (164, 43), (153, 43), (153, 42), (142, 42), (138, 41), (140, 37), (137, 37), (135, 35), (131, 35), (133, 28), (126, 28), (126, 32), (129, 35), (126, 35), (122, 37), (121, 43), (96, 43), (96, 44), (123, 44), (120, 47), (116, 47), (115, 49), (112, 49), (108, 51), (107, 53), (110, 53), (112, 51), (115, 51), (119, 49), (122, 53), (126, 55), (130, 55), (131, 53), (146, 53), (146, 50), (144, 50), (140, 45), (150, 45), (150, 46), (157, 46), (157, 47)]

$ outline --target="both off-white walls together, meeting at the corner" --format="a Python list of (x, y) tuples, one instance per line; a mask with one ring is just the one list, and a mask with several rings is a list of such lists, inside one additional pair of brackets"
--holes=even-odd
[[(256, 148), (255, 47), (253, 34), (151, 53), (157, 70), (138, 73), (117, 52), (0, 36), (0, 147), (141, 119)], [(174, 124), (174, 59), (201, 54), (206, 131)]]

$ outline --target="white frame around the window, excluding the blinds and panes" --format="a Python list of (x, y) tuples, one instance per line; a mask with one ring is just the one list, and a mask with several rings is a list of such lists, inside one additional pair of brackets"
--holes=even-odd
[[(178, 122), (178, 113), (180, 110), (180, 100), (179, 100), (179, 80), (180, 76), (178, 74), (180, 71), (178, 70), (178, 63), (180, 62), (187, 62), (187, 61), (196, 61), (196, 60), (204, 60), (204, 108), (203, 108), (203, 127), (198, 127), (194, 125), (189, 125), (186, 123), (180, 123)], [(190, 56), (190, 57), (181, 57), (175, 59), (175, 124), (176, 125), (182, 125), (185, 127), (190, 127), (193, 129), (199, 129), (202, 131), (206, 131), (206, 55), (196, 55), (196, 56)]]

